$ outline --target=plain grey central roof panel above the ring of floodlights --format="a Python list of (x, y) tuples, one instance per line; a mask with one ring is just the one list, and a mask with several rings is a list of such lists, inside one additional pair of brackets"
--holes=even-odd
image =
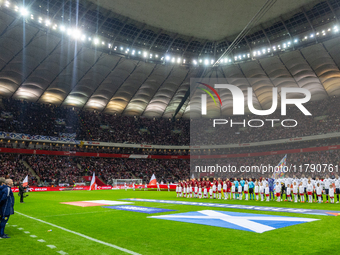
[[(92, 0), (130, 19), (172, 33), (221, 40), (239, 33), (267, 0)], [(279, 0), (261, 23), (315, 0)]]

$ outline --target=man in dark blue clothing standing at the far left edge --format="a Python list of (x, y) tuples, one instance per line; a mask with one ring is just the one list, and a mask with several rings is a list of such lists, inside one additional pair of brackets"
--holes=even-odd
[(5, 185), (0, 186), (0, 238), (9, 238), (9, 236), (5, 234), (5, 227), (9, 217), (14, 214), (14, 196), (11, 190), (12, 186), (13, 181), (11, 179), (7, 179), (5, 181)]

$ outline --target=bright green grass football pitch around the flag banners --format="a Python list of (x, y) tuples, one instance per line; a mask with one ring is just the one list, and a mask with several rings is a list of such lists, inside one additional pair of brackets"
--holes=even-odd
[[(63, 191), (30, 193), (24, 204), (15, 194), (16, 214), (0, 240), (0, 254), (338, 254), (340, 216), (320, 216), (202, 206), (134, 202), (133, 205), (177, 210), (157, 214), (78, 207), (60, 202), (124, 198), (291, 207), (340, 211), (340, 204), (256, 202), (176, 198), (175, 192)], [(121, 201), (121, 200), (120, 200)], [(152, 215), (219, 210), (320, 219), (255, 233), (148, 218)], [(27, 217), (29, 216), (29, 217)], [(124, 250), (126, 249), (126, 250)]]

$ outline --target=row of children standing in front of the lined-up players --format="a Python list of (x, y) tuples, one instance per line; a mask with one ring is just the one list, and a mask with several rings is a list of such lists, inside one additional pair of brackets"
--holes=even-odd
[[(211, 188), (208, 188), (207, 186), (204, 186), (203, 188), (201, 186), (195, 185), (195, 187), (187, 187), (182, 188), (180, 185), (176, 187), (176, 193), (177, 197), (186, 197), (186, 198), (217, 198), (222, 199), (222, 190), (223, 190), (223, 197), (224, 199), (238, 199), (242, 200), (243, 195), (245, 200), (254, 199), (256, 198), (256, 201), (261, 199), (261, 201), (267, 201), (269, 202), (270, 199), (270, 189), (267, 184), (264, 184), (262, 182), (256, 181), (248, 182), (245, 181), (243, 187), (242, 185), (235, 185), (234, 182), (231, 183), (231, 187), (228, 188), (226, 182), (223, 182), (222, 184), (218, 184), (217, 186), (213, 184)], [(307, 196), (308, 196), (308, 202), (312, 203), (313, 201), (313, 193), (316, 193), (317, 195), (317, 202), (322, 203), (323, 198), (323, 188), (320, 185), (320, 183), (317, 183), (317, 186), (314, 188), (313, 184), (309, 180), (307, 183)], [(276, 201), (281, 202), (281, 194), (282, 194), (282, 186), (279, 181), (276, 182), (274, 186), (274, 194), (276, 196)], [(254, 197), (255, 195), (255, 197)], [(332, 185), (329, 187), (329, 198), (330, 203), (334, 203), (334, 188)], [(294, 197), (293, 197), (294, 196)], [(292, 202), (294, 201), (297, 203), (298, 201), (301, 201), (301, 203), (305, 203), (305, 187), (302, 185), (302, 183), (296, 184), (294, 182), (292, 186), (286, 187), (286, 201)]]

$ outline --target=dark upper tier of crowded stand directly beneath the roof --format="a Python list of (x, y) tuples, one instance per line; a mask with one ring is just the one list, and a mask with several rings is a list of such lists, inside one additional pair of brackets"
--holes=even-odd
[[(305, 104), (312, 116), (305, 116), (297, 107), (287, 109), (289, 119), (298, 121), (294, 128), (271, 127), (271, 122), (261, 128), (241, 127), (242, 125), (217, 125), (212, 120), (165, 118), (144, 118), (109, 115), (96, 111), (66, 108), (2, 99), (0, 131), (30, 135), (61, 136), (75, 134), (78, 140), (142, 143), (155, 145), (204, 145), (240, 144), (319, 135), (339, 132), (340, 97)], [(248, 115), (226, 117), (234, 122), (243, 119), (282, 119), (280, 110), (270, 116)], [(291, 123), (292, 124), (292, 123)], [(247, 125), (246, 125), (247, 126)], [(190, 130), (191, 129), (191, 130)]]

